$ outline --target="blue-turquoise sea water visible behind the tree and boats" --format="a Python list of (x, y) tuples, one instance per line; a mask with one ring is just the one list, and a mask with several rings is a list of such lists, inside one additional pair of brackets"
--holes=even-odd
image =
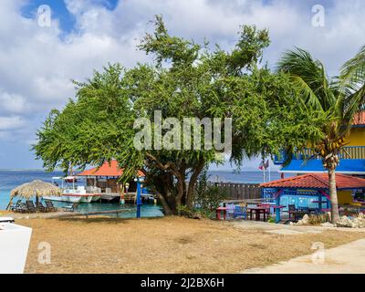
[[(10, 200), (10, 191), (16, 186), (28, 183), (33, 180), (41, 180), (51, 183), (53, 176), (62, 176), (63, 172), (45, 172), (42, 170), (0, 170), (0, 210), (5, 210)], [(209, 180), (224, 183), (263, 183), (263, 172), (208, 172)], [(268, 182), (268, 173), (265, 180)], [(270, 179), (279, 179), (278, 172), (271, 172)], [(58, 206), (68, 205), (69, 203), (56, 203)], [(128, 207), (135, 208), (130, 205)], [(80, 204), (81, 211), (116, 210), (121, 208), (118, 203), (84, 203)], [(142, 216), (162, 216), (161, 206), (144, 204), (141, 211)], [(123, 217), (133, 217), (134, 212), (120, 214)]]

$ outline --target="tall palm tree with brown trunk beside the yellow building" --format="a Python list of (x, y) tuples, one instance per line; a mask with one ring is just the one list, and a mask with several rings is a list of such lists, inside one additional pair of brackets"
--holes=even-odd
[(336, 168), (339, 151), (346, 153), (343, 147), (354, 115), (364, 101), (365, 47), (344, 65), (339, 78), (329, 78), (324, 65), (300, 48), (287, 51), (277, 69), (290, 75), (309, 110), (318, 117), (326, 117), (321, 129), (323, 139), (308, 141), (308, 144), (314, 146), (314, 156), (322, 159), (323, 167), (328, 171), (331, 220), (336, 223), (339, 220)]

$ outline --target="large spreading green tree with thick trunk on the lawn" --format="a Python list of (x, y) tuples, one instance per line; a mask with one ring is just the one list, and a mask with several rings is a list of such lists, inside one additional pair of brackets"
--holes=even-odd
[(86, 82), (76, 82), (76, 98), (50, 113), (34, 146), (47, 169), (116, 159), (126, 169), (122, 179), (143, 170), (165, 213), (173, 214), (182, 204), (193, 206), (199, 174), (206, 165), (219, 163), (216, 154), (223, 151), (138, 150), (133, 143), (137, 118), (150, 120), (152, 131), (158, 127), (155, 110), (161, 110), (162, 120), (231, 118), (233, 143), (227, 154), (236, 163), (321, 138), (320, 119), (299, 103), (287, 75), (257, 68), (269, 44), (266, 30), (243, 26), (235, 47), (225, 51), (171, 36), (160, 16), (154, 24), (140, 46), (153, 57), (151, 63), (109, 65)]

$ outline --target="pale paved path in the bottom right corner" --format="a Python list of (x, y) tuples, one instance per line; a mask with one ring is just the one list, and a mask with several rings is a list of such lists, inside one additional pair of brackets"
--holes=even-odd
[(244, 274), (364, 274), (365, 239), (347, 245), (318, 249), (312, 255), (292, 258), (273, 266), (252, 268)]

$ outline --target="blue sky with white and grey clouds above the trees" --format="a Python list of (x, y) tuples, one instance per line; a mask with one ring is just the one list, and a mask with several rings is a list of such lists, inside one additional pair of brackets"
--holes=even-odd
[[(45, 10), (38, 13), (40, 5), (51, 8), (50, 26)], [(324, 19), (316, 17), (318, 5)], [(29, 148), (48, 111), (73, 97), (70, 80), (84, 80), (108, 62), (130, 67), (147, 61), (136, 44), (151, 31), (156, 14), (172, 34), (198, 42), (206, 37), (227, 48), (240, 25), (266, 27), (270, 66), (297, 46), (334, 75), (365, 45), (364, 13), (363, 0), (1, 0), (0, 168), (41, 167)], [(256, 167), (257, 162), (245, 164)]]

